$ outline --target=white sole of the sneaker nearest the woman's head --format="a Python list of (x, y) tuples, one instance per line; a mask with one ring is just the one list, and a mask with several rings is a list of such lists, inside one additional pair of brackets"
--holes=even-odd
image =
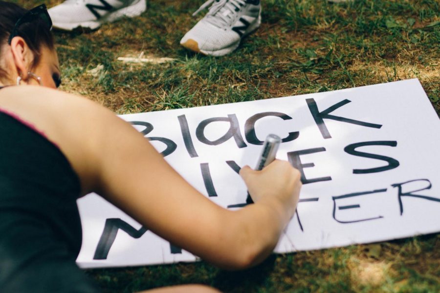
[(53, 22), (53, 27), (66, 31), (72, 31), (76, 28), (87, 28), (90, 30), (94, 30), (99, 28), (105, 22), (116, 21), (122, 17), (136, 17), (141, 15), (145, 10), (147, 10), (147, 1), (139, 0), (130, 6), (111, 12), (105, 17), (102, 17), (96, 21)]

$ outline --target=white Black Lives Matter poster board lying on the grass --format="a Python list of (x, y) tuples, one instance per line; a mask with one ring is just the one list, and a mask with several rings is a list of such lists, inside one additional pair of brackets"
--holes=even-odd
[[(226, 209), (245, 205), (240, 168), (255, 166), (267, 134), (280, 136), (277, 158), (303, 188), (275, 252), (440, 231), (440, 121), (417, 79), (121, 118)], [(81, 267), (197, 260), (96, 194), (78, 206)]]

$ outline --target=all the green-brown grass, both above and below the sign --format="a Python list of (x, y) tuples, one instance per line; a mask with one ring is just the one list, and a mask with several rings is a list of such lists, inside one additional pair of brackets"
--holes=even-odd
[[(32, 7), (42, 1), (16, 1)], [(62, 1), (46, 1), (48, 6)], [(151, 0), (142, 16), (56, 32), (62, 90), (119, 114), (234, 103), (418, 78), (440, 114), (438, 0), (263, 0), (234, 53), (178, 45), (202, 0)], [(117, 57), (171, 57), (133, 65)], [(104, 292), (203, 283), (224, 292), (440, 292), (440, 234), (271, 256), (244, 272), (207, 263), (88, 271)]]

